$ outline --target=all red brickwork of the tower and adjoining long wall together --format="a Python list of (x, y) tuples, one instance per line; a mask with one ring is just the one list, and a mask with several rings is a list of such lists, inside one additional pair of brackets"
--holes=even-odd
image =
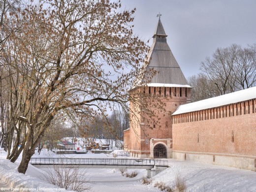
[[(179, 105), (190, 102), (190, 89), (185, 89), (139, 87), (132, 90), (156, 96), (154, 99), (165, 103), (165, 111), (152, 107), (160, 121), (158, 124), (146, 122), (148, 117), (143, 107), (131, 102), (132, 115), (130, 128), (124, 131), (124, 149), (132, 157), (156, 158), (154, 148), (162, 144), (167, 158), (256, 171), (256, 98), (171, 115)], [(152, 97), (146, 101), (154, 102)]]

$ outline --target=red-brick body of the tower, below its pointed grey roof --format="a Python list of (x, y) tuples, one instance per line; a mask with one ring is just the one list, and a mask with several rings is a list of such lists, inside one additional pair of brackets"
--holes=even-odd
[[(191, 90), (185, 87), (139, 87), (132, 91), (148, 96), (157, 96), (165, 103), (165, 111), (152, 105), (152, 110), (160, 117), (160, 121), (153, 123), (147, 121), (149, 117), (143, 112), (142, 107), (135, 101), (130, 102), (130, 129), (124, 131), (124, 149), (132, 157), (154, 158), (154, 147), (162, 144), (166, 147), (167, 158), (172, 157), (172, 122), (171, 114), (179, 105), (190, 102)], [(132, 95), (132, 93), (130, 93)], [(146, 100), (153, 103), (152, 97)]]

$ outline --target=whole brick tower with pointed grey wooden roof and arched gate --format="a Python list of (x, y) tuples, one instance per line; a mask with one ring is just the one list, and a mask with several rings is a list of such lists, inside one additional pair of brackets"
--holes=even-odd
[[(159, 21), (153, 36), (153, 45), (148, 53), (145, 70), (154, 68), (156, 74), (146, 84), (141, 83), (130, 90), (130, 94), (143, 93), (165, 103), (165, 111), (158, 111), (160, 120), (157, 124), (144, 122), (143, 109), (130, 102), (130, 128), (124, 131), (124, 149), (132, 157), (171, 158), (172, 157), (172, 122), (171, 114), (179, 105), (191, 101), (191, 86), (181, 71), (167, 42), (162, 23)], [(145, 78), (145, 77), (144, 77)], [(141, 82), (145, 82), (141, 79)], [(152, 101), (149, 101), (152, 102)], [(136, 112), (134, 112), (137, 106)], [(138, 109), (139, 108), (139, 109)], [(157, 111), (157, 108), (152, 108)]]

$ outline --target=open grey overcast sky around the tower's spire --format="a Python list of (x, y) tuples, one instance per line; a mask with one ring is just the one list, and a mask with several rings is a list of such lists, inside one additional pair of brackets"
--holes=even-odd
[(122, 6), (136, 7), (134, 32), (145, 40), (162, 14), (167, 43), (186, 78), (218, 47), (256, 43), (256, 0), (122, 0)]

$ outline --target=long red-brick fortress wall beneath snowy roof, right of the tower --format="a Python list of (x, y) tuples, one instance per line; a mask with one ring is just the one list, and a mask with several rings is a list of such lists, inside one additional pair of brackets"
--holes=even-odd
[(256, 99), (172, 116), (173, 158), (256, 171)]

